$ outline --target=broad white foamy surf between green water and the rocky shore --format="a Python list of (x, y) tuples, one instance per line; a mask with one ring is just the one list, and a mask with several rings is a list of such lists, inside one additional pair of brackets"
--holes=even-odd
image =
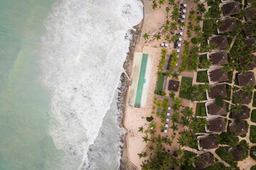
[(46, 18), (43, 81), (53, 90), (50, 135), (66, 153), (62, 169), (87, 165), (129, 50), (124, 36), (142, 17), (137, 0), (65, 0)]

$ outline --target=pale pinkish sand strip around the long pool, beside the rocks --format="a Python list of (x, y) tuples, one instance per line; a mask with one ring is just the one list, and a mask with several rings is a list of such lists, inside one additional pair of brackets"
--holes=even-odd
[[(147, 67), (151, 68), (149, 75), (149, 86), (147, 89), (146, 95), (146, 104), (144, 109), (142, 108), (132, 108), (127, 106), (124, 111), (124, 128), (127, 130), (127, 154), (129, 162), (137, 166), (137, 169), (141, 169), (140, 165), (142, 161), (148, 159), (149, 157), (139, 159), (138, 153), (141, 153), (143, 150), (146, 151), (146, 143), (142, 142), (142, 137), (145, 135), (141, 132), (138, 132), (139, 127), (144, 126), (144, 129), (149, 128), (149, 123), (146, 122), (146, 116), (151, 116), (151, 108), (153, 106), (154, 100), (154, 90), (156, 87), (157, 79), (157, 65), (160, 60), (161, 48), (159, 44), (164, 42), (163, 40), (152, 40), (156, 35), (156, 32), (161, 28), (165, 23), (166, 11), (165, 6), (152, 10), (151, 8), (152, 1), (144, 0), (144, 23), (142, 26), (142, 35), (148, 33), (151, 35), (149, 40), (144, 40), (140, 38), (139, 43), (137, 43), (136, 51), (144, 52), (149, 54), (149, 60), (151, 61)], [(149, 44), (150, 42), (150, 44)], [(169, 45), (170, 47), (171, 45)], [(171, 52), (169, 48), (169, 52)], [(150, 135), (149, 135), (150, 137)]]

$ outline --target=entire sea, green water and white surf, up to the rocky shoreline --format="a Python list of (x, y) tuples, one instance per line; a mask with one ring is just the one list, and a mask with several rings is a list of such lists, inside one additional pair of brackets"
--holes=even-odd
[(137, 0), (0, 0), (0, 169), (118, 169)]

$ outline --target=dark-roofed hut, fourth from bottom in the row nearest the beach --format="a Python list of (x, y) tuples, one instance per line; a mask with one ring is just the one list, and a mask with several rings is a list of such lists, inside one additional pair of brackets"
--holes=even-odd
[(227, 114), (225, 102), (223, 102), (223, 106), (218, 106), (216, 103), (206, 103), (206, 113), (208, 117)]

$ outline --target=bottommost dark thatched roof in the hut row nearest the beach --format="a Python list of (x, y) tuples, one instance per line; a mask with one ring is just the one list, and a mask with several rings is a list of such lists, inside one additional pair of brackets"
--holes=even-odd
[(206, 169), (210, 166), (213, 166), (214, 161), (213, 158), (210, 157), (210, 153), (206, 152), (206, 154), (201, 154), (198, 159), (195, 161), (196, 169)]

